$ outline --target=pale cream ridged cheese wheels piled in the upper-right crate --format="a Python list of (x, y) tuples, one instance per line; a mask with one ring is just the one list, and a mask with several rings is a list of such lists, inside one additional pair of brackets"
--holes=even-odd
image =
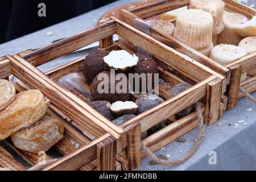
[[(180, 42), (222, 65), (256, 51), (256, 15), (249, 20), (225, 12), (221, 0), (191, 0), (188, 8), (161, 15), (165, 20), (176, 18), (174, 38)], [(256, 76), (256, 68), (243, 72), (241, 81), (246, 80), (247, 73)]]

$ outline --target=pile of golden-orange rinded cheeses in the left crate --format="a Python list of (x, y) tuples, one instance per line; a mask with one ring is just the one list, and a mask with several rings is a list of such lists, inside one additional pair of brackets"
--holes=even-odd
[(11, 82), (0, 80), (0, 140), (11, 136), (24, 151), (47, 151), (63, 138), (64, 126), (46, 114), (50, 102), (39, 90), (15, 92)]

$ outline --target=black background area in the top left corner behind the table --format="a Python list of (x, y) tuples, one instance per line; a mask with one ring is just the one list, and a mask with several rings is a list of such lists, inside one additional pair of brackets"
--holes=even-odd
[[(1, 0), (0, 43), (29, 34), (117, 0)], [(38, 4), (46, 4), (46, 17)]]

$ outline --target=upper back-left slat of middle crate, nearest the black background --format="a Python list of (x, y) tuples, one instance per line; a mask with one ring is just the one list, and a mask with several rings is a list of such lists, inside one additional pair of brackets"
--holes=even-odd
[(90, 28), (89, 30), (80, 32), (70, 38), (60, 40), (59, 42), (53, 43), (50, 46), (40, 48), (36, 51), (28, 53), (24, 56), (29, 63), (34, 66), (38, 66), (47, 63), (50, 60), (55, 59), (76, 51), (82, 47), (88, 46), (94, 42), (107, 38), (115, 34), (115, 22), (110, 20), (109, 22), (103, 23), (98, 27)]

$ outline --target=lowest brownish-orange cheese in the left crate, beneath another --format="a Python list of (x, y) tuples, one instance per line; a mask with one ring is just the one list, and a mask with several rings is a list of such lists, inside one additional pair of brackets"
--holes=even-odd
[(48, 151), (63, 138), (64, 126), (59, 119), (44, 115), (38, 122), (11, 135), (15, 147), (38, 154)]

